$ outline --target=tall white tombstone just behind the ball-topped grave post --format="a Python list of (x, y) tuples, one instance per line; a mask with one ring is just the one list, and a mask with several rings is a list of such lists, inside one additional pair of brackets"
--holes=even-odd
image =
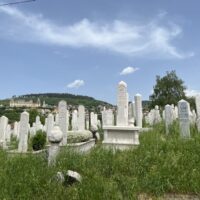
[(62, 145), (67, 144), (67, 103), (66, 101), (60, 101), (58, 105), (58, 124), (63, 133)]

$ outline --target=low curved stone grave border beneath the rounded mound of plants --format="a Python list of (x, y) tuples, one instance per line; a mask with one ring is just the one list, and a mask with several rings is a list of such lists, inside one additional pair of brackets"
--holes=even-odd
[(73, 150), (78, 153), (86, 153), (89, 152), (94, 146), (95, 146), (95, 139), (90, 139), (86, 142), (71, 143), (65, 146), (61, 146), (61, 149), (68, 148), (69, 150)]

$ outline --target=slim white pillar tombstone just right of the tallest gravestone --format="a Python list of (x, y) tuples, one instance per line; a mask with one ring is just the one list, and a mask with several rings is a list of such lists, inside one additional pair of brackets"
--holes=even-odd
[(140, 94), (135, 95), (135, 112), (136, 112), (136, 126), (142, 128), (142, 96)]

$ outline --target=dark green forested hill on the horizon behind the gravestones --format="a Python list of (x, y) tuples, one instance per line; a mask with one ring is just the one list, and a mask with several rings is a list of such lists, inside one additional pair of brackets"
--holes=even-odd
[(74, 106), (77, 105), (84, 105), (86, 107), (97, 107), (99, 105), (112, 106), (107, 102), (96, 100), (92, 97), (73, 95), (68, 93), (27, 94), (14, 97), (15, 100), (23, 99), (25, 101), (33, 100), (35, 102), (37, 102), (38, 98), (40, 99), (41, 104), (43, 103), (43, 101), (45, 101), (46, 104), (51, 106), (58, 105), (58, 102), (61, 100), (65, 100), (67, 101), (67, 104)]

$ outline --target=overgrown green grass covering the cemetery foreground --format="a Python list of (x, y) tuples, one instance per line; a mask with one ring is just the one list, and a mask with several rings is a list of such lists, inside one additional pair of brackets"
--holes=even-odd
[[(50, 167), (45, 156), (9, 156), (1, 150), (0, 199), (158, 199), (165, 194), (198, 197), (200, 135), (194, 126), (191, 136), (180, 138), (178, 122), (166, 135), (160, 123), (140, 135), (137, 148), (113, 153), (99, 142), (87, 154), (66, 149)], [(67, 170), (80, 173), (82, 182), (57, 182), (56, 173)]]

